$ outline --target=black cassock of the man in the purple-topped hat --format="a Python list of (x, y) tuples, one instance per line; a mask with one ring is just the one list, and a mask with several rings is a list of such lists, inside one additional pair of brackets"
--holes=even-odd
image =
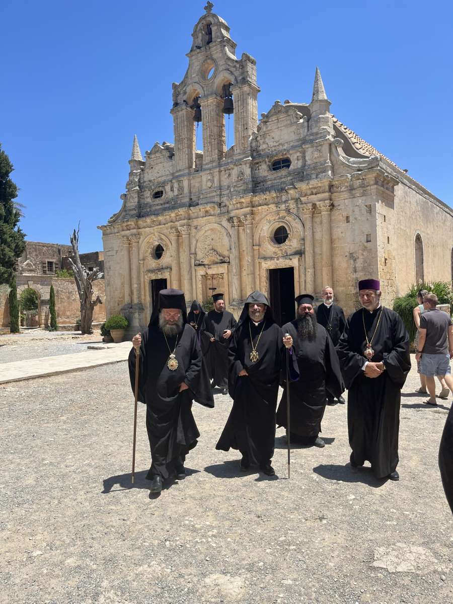
[[(373, 362), (384, 361), (379, 377), (365, 377), (363, 353), (372, 341)], [(365, 329), (364, 329), (365, 321)], [(349, 444), (356, 464), (370, 461), (377, 478), (394, 472), (398, 464), (401, 388), (411, 368), (409, 336), (399, 315), (382, 306), (372, 313), (357, 310), (346, 321), (336, 352), (348, 394)]]

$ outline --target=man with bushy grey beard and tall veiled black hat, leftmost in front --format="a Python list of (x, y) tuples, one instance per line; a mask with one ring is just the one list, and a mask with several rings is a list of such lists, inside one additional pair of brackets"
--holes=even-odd
[(193, 400), (214, 406), (208, 384), (202, 384), (200, 345), (186, 319), (184, 294), (178, 289), (162, 289), (148, 329), (133, 337), (129, 353), (133, 391), (135, 348), (140, 347), (138, 400), (146, 404), (152, 461), (147, 478), (152, 481), (153, 493), (160, 492), (162, 480), (172, 474), (185, 477), (185, 455), (199, 437), (191, 412)]

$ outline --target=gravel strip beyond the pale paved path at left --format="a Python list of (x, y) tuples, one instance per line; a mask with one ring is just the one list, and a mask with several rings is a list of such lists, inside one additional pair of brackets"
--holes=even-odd
[(42, 356), (70, 355), (85, 352), (88, 343), (101, 342), (99, 332), (82, 336), (80, 332), (29, 332), (0, 337), (0, 365), (12, 361), (28, 361)]

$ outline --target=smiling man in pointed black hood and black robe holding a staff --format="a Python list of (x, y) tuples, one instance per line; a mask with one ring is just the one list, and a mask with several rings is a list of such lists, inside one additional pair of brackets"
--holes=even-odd
[(216, 445), (220, 451), (239, 449), (243, 471), (258, 465), (266, 475), (275, 474), (275, 409), (285, 346), (291, 344), (291, 338), (284, 341), (266, 296), (250, 294), (228, 352), (233, 407)]

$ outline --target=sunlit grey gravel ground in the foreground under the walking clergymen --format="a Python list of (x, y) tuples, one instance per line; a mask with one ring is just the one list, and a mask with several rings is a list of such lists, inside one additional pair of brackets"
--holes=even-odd
[(269, 479), (214, 449), (231, 408), (194, 405), (188, 476), (149, 495), (144, 407), (130, 484), (126, 363), (0, 387), (0, 602), (410, 604), (453, 601), (453, 520), (437, 467), (451, 397), (403, 391), (399, 483), (349, 466), (345, 405), (324, 449), (277, 432)]

